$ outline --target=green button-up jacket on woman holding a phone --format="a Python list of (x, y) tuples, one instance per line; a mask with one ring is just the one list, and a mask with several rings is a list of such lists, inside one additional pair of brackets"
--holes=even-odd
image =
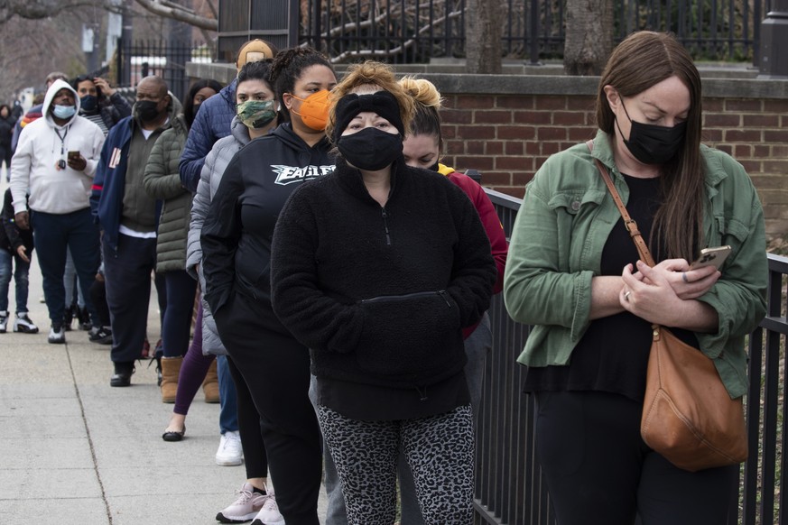
[[(745, 336), (765, 316), (768, 279), (764, 212), (744, 168), (728, 154), (701, 146), (706, 177), (705, 244), (733, 248), (722, 277), (699, 300), (717, 310), (714, 333), (696, 336), (732, 398), (746, 392)], [(629, 190), (613, 161), (607, 134), (593, 156), (607, 166), (626, 203)], [(533, 325), (518, 362), (565, 365), (589, 327), (591, 278), (621, 218), (588, 146), (552, 155), (528, 184), (515, 219), (504, 299), (515, 321)]]

